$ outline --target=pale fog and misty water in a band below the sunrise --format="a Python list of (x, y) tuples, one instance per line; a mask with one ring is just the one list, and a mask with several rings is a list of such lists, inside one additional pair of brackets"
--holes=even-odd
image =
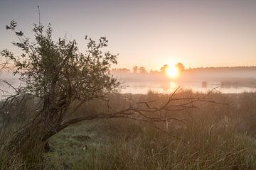
[(190, 69), (170, 78), (164, 74), (113, 73), (123, 86), (121, 93), (146, 94), (156, 91), (168, 94), (182, 89), (207, 92), (213, 88), (224, 94), (256, 91), (256, 69), (215, 68)]

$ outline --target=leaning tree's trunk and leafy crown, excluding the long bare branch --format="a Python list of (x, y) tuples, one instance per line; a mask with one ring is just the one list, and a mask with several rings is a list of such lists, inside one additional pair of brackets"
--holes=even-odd
[(7, 150), (10, 155), (25, 152), (23, 149), (45, 142), (68, 125), (81, 121), (69, 119), (70, 114), (83, 103), (102, 98), (119, 86), (110, 75), (110, 67), (117, 63), (117, 55), (102, 52), (108, 42), (105, 37), (101, 37), (99, 42), (86, 37), (87, 52), (82, 54), (75, 40), (58, 38), (53, 41), (50, 25), (46, 32), (43, 28), (41, 23), (34, 24), (35, 42), (31, 42), (22, 31), (16, 30), (16, 22), (11, 21), (6, 26), (17, 35), (18, 42), (13, 44), (23, 53), (16, 57), (9, 50), (2, 50), (1, 55), (14, 63), (14, 74), (18, 74), (25, 85), (6, 99), (1, 111), (11, 108), (12, 103), (24, 94), (39, 98), (41, 102), (33, 120), (9, 141)]

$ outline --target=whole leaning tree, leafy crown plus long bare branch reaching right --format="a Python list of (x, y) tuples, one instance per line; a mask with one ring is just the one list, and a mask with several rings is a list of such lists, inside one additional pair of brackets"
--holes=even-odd
[[(176, 91), (174, 91), (174, 94), (167, 98), (166, 103), (158, 107), (152, 106), (152, 101), (147, 101), (139, 102), (121, 111), (109, 109), (106, 113), (81, 117), (70, 116), (87, 101), (95, 98), (106, 100), (106, 94), (119, 86), (110, 74), (111, 65), (117, 63), (117, 55), (112, 55), (105, 50), (104, 47), (107, 46), (105, 37), (96, 42), (86, 36), (87, 49), (85, 53), (81, 53), (75, 40), (70, 41), (65, 37), (53, 40), (53, 30), (50, 25), (45, 30), (41, 23), (34, 24), (35, 40), (33, 41), (27, 38), (22, 31), (17, 30), (16, 26), (16, 22), (11, 21), (6, 29), (17, 35), (18, 42), (13, 42), (13, 44), (23, 53), (16, 56), (9, 50), (2, 50), (1, 56), (14, 65), (14, 74), (18, 74), (23, 86), (15, 89), (16, 94), (6, 98), (0, 112), (16, 111), (14, 103), (18, 107), (18, 103), (25, 100), (27, 96), (36, 98), (38, 103), (33, 111), (32, 119), (14, 132), (11, 139), (6, 142), (5, 149), (9, 155), (21, 155), (22, 157), (28, 147), (42, 147), (49, 137), (68, 125), (82, 120), (139, 119), (158, 128), (156, 122), (168, 122), (169, 120), (182, 122), (183, 120), (178, 120), (168, 114), (162, 117), (163, 114), (156, 113), (183, 111), (195, 107), (193, 103), (196, 101), (209, 101), (207, 95), (175, 98)], [(174, 102), (177, 101), (178, 103), (175, 104)], [(111, 108), (108, 100), (107, 107)]]

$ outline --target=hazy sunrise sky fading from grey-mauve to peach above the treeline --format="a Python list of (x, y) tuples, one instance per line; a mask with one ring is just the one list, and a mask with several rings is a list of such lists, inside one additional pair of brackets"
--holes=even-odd
[(56, 38), (78, 40), (81, 51), (85, 35), (105, 35), (110, 51), (119, 53), (117, 67), (256, 65), (256, 0), (0, 0), (1, 50), (15, 50), (5, 29), (11, 19), (33, 38), (36, 6)]

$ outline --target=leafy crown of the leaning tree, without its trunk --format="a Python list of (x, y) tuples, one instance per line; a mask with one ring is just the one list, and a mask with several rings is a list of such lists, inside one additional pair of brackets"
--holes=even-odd
[[(6, 29), (12, 30), (18, 37), (13, 42), (23, 54), (14, 56), (9, 50), (1, 51), (1, 55), (14, 62), (14, 74), (21, 75), (26, 83), (23, 92), (39, 98), (52, 95), (66, 100), (90, 100), (117, 87), (115, 79), (110, 77), (111, 64), (117, 63), (117, 56), (110, 52), (102, 52), (107, 46), (107, 39), (100, 38), (97, 43), (91, 38), (87, 43), (87, 51), (78, 51), (75, 40), (68, 41), (66, 37), (52, 40), (53, 29), (48, 26), (46, 33), (43, 25), (34, 24), (35, 42), (30, 42), (22, 31), (16, 30), (16, 22), (11, 21)], [(86, 37), (87, 39), (87, 37)]]

